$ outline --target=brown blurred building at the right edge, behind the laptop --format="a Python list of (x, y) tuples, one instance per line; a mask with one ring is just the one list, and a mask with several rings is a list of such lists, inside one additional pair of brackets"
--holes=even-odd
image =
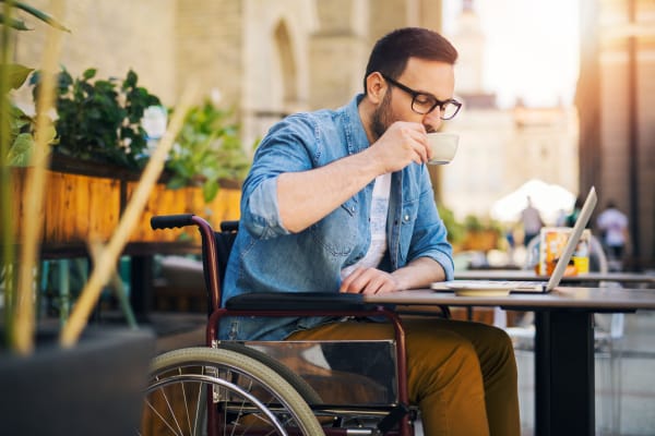
[(629, 268), (655, 267), (655, 2), (581, 0), (580, 186), (628, 214)]

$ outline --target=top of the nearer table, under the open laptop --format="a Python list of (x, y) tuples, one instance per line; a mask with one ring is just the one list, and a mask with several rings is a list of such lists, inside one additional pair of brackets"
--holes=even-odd
[(414, 289), (364, 295), (369, 303), (400, 305), (502, 306), (534, 310), (565, 308), (591, 312), (655, 310), (655, 290), (630, 288), (559, 287), (550, 293), (511, 293), (505, 296), (458, 296), (450, 291)]

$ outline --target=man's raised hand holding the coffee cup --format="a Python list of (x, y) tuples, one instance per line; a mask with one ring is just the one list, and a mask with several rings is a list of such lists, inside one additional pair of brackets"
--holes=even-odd
[(410, 162), (425, 164), (431, 157), (426, 128), (420, 123), (396, 121), (374, 144), (371, 152), (384, 171), (402, 170)]

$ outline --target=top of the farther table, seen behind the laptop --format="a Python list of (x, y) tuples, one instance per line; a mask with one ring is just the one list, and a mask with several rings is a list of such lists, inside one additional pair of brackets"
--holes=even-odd
[[(548, 280), (532, 269), (472, 269), (455, 271), (457, 280)], [(655, 284), (655, 274), (640, 272), (586, 272), (562, 277), (562, 282), (618, 281), (622, 283)]]

